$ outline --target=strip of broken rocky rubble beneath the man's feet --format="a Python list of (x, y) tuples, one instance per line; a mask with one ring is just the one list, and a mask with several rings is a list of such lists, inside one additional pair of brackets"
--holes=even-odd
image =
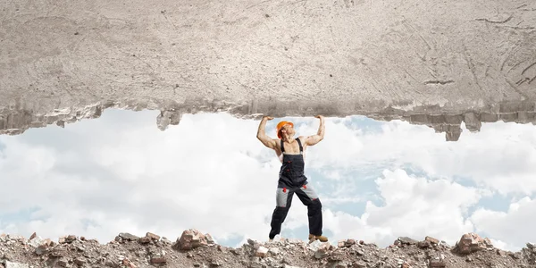
[(69, 235), (26, 239), (0, 235), (0, 268), (29, 267), (536, 267), (536, 247), (519, 252), (500, 250), (489, 239), (464, 234), (456, 245), (431, 237), (398, 238), (389, 247), (362, 240), (331, 243), (280, 239), (248, 240), (239, 248), (214, 243), (209, 234), (185, 230), (175, 242), (147, 232), (145, 237), (120, 233), (103, 245), (95, 239)]

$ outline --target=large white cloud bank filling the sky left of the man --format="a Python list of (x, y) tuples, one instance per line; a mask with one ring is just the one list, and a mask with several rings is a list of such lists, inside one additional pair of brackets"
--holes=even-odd
[[(3, 137), (0, 180), (18, 190), (3, 191), (0, 210), (38, 205), (40, 215), (0, 229), (103, 241), (121, 231), (173, 238), (188, 228), (223, 238), (232, 232), (265, 238), (280, 163), (256, 139), (257, 126), (226, 114), (185, 115), (163, 132), (153, 121), (121, 128), (82, 121), (62, 130), (80, 135), (80, 147), (63, 151)], [(70, 165), (91, 168), (69, 172)], [(88, 220), (93, 224), (86, 229)]]

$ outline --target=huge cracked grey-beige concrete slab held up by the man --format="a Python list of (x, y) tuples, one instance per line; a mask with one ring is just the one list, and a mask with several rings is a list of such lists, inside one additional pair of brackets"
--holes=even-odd
[[(0, 0), (0, 131), (158, 109), (533, 122), (532, 0)], [(93, 112), (92, 112), (93, 111)], [(100, 111), (96, 113), (96, 111)]]

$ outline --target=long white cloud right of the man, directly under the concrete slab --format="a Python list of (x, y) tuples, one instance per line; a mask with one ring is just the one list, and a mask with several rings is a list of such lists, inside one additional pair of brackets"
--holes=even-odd
[[(300, 125), (299, 131), (312, 133), (317, 126)], [(359, 131), (349, 117), (331, 120), (325, 139), (310, 148), (308, 166), (343, 170), (410, 164), (432, 177), (463, 177), (501, 194), (536, 191), (534, 125), (498, 121), (483, 123), (480, 132), (462, 128), (458, 141), (446, 142), (444, 133), (406, 121), (384, 122), (381, 131), (367, 132)]]

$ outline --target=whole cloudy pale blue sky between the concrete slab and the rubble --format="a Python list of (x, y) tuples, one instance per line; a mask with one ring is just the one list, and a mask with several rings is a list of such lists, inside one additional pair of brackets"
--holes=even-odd
[[(0, 136), (0, 233), (107, 243), (120, 232), (209, 233), (228, 247), (267, 241), (281, 163), (256, 138), (258, 120), (184, 114), (158, 130), (158, 111), (108, 109), (98, 119)], [(314, 117), (293, 121), (314, 135)], [(323, 234), (387, 247), (398, 237), (456, 244), (464, 233), (517, 251), (536, 241), (536, 127), (462, 125), (458, 141), (406, 121), (326, 118), (306, 152), (322, 202)], [(306, 206), (294, 197), (281, 238), (306, 240)], [(279, 238), (279, 237), (278, 237)]]

